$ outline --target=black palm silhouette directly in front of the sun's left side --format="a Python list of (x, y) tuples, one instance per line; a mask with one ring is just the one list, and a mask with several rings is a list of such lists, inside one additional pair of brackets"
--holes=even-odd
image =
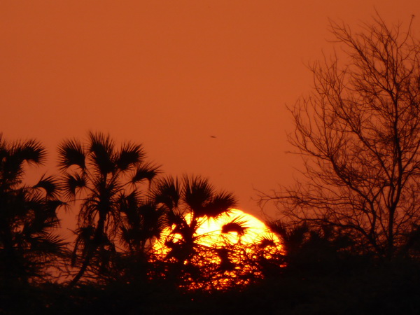
[[(179, 278), (200, 277), (197, 257), (202, 254), (197, 235), (202, 218), (216, 218), (237, 206), (232, 193), (216, 192), (207, 179), (184, 176), (181, 181), (167, 177), (160, 179), (153, 189), (155, 203), (165, 213), (165, 225), (171, 231), (165, 241), (169, 248), (167, 261), (174, 262), (169, 276)], [(207, 248), (209, 250), (209, 248)], [(200, 258), (198, 258), (200, 259)], [(184, 279), (185, 280), (185, 279)]]

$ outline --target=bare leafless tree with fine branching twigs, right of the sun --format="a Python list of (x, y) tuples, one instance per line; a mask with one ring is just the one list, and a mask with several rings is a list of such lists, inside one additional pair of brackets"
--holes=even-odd
[(379, 15), (354, 32), (331, 22), (342, 52), (311, 67), (314, 91), (290, 108), (306, 181), (262, 195), (288, 220), (346, 230), (391, 257), (419, 223), (420, 45)]

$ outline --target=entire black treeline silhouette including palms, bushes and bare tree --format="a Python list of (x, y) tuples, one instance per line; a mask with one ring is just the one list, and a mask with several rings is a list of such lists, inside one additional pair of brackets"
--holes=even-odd
[(305, 181), (260, 200), (283, 215), (267, 223), (281, 248), (200, 242), (235, 196), (162, 174), (139, 144), (64, 140), (29, 185), (45, 148), (0, 138), (0, 314), (419, 314), (420, 45), (379, 16), (331, 29), (345, 64), (311, 66), (314, 92), (290, 108)]

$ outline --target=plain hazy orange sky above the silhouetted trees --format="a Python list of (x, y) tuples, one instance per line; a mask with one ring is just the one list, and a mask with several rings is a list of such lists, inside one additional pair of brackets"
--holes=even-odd
[(374, 8), (420, 28), (419, 0), (1, 1), (0, 131), (48, 146), (50, 173), (62, 139), (109, 132), (258, 214), (254, 188), (290, 184), (300, 165), (286, 104), (331, 48), (328, 18), (357, 25)]

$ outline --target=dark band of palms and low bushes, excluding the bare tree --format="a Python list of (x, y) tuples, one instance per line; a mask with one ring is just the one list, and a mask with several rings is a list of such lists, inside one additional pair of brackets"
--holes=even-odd
[[(393, 258), (360, 251), (339, 228), (267, 223), (283, 244), (255, 239), (253, 255), (203, 246), (198, 219), (235, 207), (200, 177), (174, 179), (104, 134), (59, 146), (60, 174), (25, 183), (45, 162), (37, 141), (0, 141), (0, 309), (4, 314), (415, 314), (419, 233)], [(74, 241), (60, 211), (77, 211)], [(190, 215), (190, 219), (188, 218)], [(236, 231), (246, 223), (235, 221)], [(232, 225), (231, 224), (231, 225)], [(231, 226), (229, 225), (229, 226)], [(169, 250), (151, 244), (164, 228)], [(239, 246), (239, 245), (237, 245)], [(209, 253), (220, 260), (209, 259)], [(244, 271), (245, 270), (245, 271)], [(220, 284), (224, 283), (224, 284)]]

